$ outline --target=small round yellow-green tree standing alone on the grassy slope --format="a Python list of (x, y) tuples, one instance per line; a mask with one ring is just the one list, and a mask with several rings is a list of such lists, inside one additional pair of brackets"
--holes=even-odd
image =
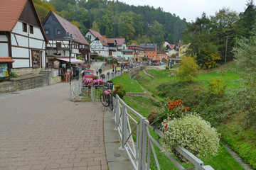
[(176, 76), (181, 81), (191, 82), (198, 73), (199, 66), (196, 64), (196, 60), (193, 57), (186, 57), (181, 61), (181, 67), (176, 72)]

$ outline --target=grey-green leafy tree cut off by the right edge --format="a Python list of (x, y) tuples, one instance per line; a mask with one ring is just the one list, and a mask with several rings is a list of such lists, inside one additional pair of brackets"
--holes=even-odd
[[(256, 128), (256, 30), (253, 30), (251, 38), (240, 38), (237, 46), (234, 47), (235, 64), (238, 67), (238, 74), (242, 79), (237, 96), (237, 104), (246, 114), (247, 127)], [(242, 102), (241, 102), (242, 101)]]

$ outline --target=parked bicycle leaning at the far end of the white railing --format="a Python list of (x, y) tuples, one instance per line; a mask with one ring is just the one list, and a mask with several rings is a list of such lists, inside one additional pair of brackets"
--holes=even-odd
[(102, 94), (100, 94), (100, 102), (105, 107), (110, 106), (110, 110), (112, 111), (113, 110), (112, 90), (114, 88), (114, 82), (107, 81), (107, 83), (101, 87), (103, 88), (103, 91), (102, 91)]

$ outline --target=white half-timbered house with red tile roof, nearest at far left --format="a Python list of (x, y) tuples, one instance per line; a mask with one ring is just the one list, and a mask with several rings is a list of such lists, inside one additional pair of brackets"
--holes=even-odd
[(38, 74), (46, 67), (46, 34), (33, 0), (8, 0), (0, 6), (0, 57), (9, 57), (16, 74)]

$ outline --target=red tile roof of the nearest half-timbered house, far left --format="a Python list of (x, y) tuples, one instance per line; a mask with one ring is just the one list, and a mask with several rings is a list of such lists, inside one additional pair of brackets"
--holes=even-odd
[(28, 0), (0, 0), (0, 30), (14, 29)]

